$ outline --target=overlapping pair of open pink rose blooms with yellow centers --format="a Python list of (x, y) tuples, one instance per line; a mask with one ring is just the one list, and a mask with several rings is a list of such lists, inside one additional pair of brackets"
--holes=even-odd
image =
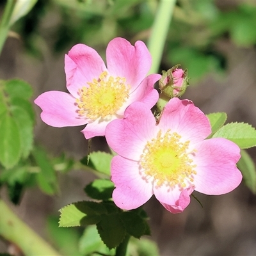
[(188, 206), (194, 190), (220, 195), (239, 185), (239, 147), (223, 138), (205, 140), (211, 125), (191, 101), (171, 99), (156, 123), (150, 109), (159, 97), (154, 83), (161, 76), (146, 77), (151, 57), (143, 42), (132, 46), (115, 38), (106, 60), (108, 68), (94, 49), (75, 45), (65, 56), (70, 94), (45, 92), (35, 103), (46, 124), (87, 124), (86, 139), (106, 135), (118, 154), (111, 163), (118, 207), (135, 209), (154, 194), (177, 213)]

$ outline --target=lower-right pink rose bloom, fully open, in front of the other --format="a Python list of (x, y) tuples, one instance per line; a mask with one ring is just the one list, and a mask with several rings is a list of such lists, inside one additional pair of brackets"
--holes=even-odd
[(123, 120), (106, 128), (106, 140), (119, 156), (111, 163), (113, 200), (121, 209), (145, 204), (154, 194), (170, 212), (184, 211), (191, 193), (221, 195), (235, 189), (242, 175), (240, 149), (211, 138), (208, 118), (190, 100), (171, 99), (159, 124), (150, 109), (135, 102)]

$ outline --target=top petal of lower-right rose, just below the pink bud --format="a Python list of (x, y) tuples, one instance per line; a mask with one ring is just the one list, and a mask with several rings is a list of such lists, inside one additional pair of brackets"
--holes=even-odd
[(171, 99), (164, 107), (159, 129), (171, 129), (182, 136), (182, 140), (191, 144), (207, 138), (211, 134), (211, 125), (204, 113), (190, 100)]

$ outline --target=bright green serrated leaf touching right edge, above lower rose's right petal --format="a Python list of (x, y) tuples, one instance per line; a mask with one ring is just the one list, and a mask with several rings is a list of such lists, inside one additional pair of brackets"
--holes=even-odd
[(218, 130), (212, 138), (226, 138), (236, 143), (240, 148), (256, 146), (256, 130), (250, 124), (230, 123)]

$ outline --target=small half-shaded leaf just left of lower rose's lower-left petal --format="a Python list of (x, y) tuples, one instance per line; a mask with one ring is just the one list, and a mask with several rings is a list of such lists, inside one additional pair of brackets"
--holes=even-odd
[(94, 180), (84, 188), (88, 196), (97, 200), (108, 200), (112, 197), (113, 190), (113, 182), (106, 179)]

